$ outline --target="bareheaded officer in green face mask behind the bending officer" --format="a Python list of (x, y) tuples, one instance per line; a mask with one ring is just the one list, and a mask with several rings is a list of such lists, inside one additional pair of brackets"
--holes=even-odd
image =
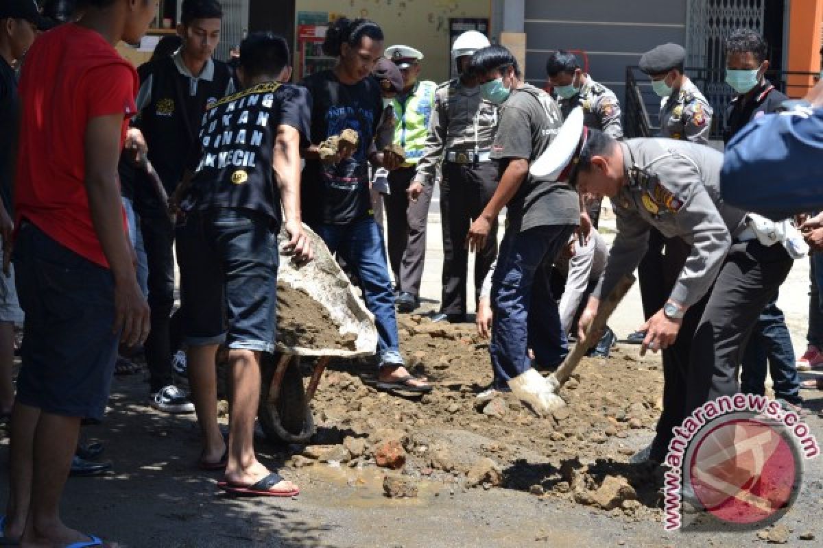
[[(564, 119), (574, 108), (581, 107), (587, 127), (604, 131), (615, 139), (623, 138), (620, 101), (613, 91), (594, 81), (580, 68), (574, 53), (562, 49), (549, 52), (546, 76), (557, 94)], [(587, 200), (586, 205), (589, 219), (596, 228), (600, 219), (600, 200)]]

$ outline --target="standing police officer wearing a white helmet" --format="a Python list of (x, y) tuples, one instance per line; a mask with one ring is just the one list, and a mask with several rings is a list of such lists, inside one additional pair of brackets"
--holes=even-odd
[[(454, 41), (452, 58), (460, 76), (439, 85), (435, 91), (425, 150), (409, 187), (409, 197), (414, 200), (425, 187), (434, 184), (442, 162), (443, 297), (434, 321), (466, 320), (468, 253), (463, 242), (472, 219), (481, 214), (497, 186), (497, 168), (490, 154), (498, 111), (481, 98), (476, 76), (467, 71), (472, 54), (488, 45), (489, 39), (477, 30), (464, 32)], [(495, 220), (491, 234), (496, 233)], [(475, 259), (475, 299), (496, 256), (497, 238), (489, 237)]]

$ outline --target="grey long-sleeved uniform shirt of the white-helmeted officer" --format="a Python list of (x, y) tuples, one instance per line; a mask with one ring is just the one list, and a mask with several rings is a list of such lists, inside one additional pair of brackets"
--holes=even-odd
[(459, 78), (440, 84), (415, 181), (434, 184), (437, 167), (447, 152), (491, 150), (497, 122), (498, 108), (481, 97), (479, 85), (467, 87)]

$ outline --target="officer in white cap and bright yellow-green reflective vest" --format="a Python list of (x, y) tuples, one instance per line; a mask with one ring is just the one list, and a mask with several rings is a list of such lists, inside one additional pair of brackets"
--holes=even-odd
[(429, 118), (435, 104), (435, 82), (418, 80), (423, 54), (408, 46), (386, 48), (385, 56), (400, 69), (403, 89), (393, 99), (394, 144), (402, 146), (406, 161), (388, 173), (384, 196), (388, 224), (388, 261), (398, 288), (398, 311), (420, 306), (420, 283), (425, 260), (425, 225), (429, 216), (432, 186), (409, 200), (407, 190), (425, 149)]

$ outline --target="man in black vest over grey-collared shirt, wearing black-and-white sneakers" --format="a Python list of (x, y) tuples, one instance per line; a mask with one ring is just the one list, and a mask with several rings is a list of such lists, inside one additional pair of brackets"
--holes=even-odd
[[(177, 29), (183, 46), (171, 57), (157, 58), (138, 69), (141, 86), (135, 127), (142, 131), (148, 159), (169, 195), (183, 175), (207, 105), (235, 91), (230, 68), (212, 59), (220, 43), (222, 16), (216, 0), (184, 0)], [(193, 412), (188, 396), (173, 384), (174, 228), (167, 205), (149, 182), (134, 185), (134, 206), (142, 221), (149, 270), (151, 333), (145, 345), (149, 403), (164, 412)]]

